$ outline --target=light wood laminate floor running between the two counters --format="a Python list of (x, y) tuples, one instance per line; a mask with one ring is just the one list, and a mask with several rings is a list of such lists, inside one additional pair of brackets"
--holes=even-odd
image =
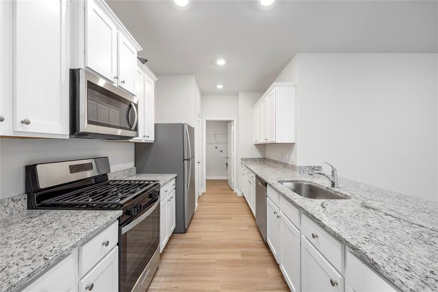
[(148, 292), (289, 291), (244, 197), (207, 181), (189, 230), (173, 234)]

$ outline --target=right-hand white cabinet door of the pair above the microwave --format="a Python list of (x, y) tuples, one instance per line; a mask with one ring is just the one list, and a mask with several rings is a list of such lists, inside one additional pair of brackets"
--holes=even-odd
[(119, 32), (118, 38), (118, 85), (123, 89), (135, 92), (135, 73), (137, 69), (137, 51), (134, 46)]

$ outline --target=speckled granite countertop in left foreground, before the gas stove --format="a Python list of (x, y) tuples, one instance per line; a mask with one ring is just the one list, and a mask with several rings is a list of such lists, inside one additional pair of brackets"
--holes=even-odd
[(18, 291), (120, 215), (122, 211), (26, 210), (2, 218), (0, 291)]

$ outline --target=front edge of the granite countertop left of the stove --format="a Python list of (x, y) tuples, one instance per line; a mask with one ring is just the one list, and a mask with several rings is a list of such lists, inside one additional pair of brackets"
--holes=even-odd
[(44, 264), (36, 267), (33, 272), (29, 274), (23, 274), (20, 278), (14, 279), (15, 283), (9, 284), (7, 287), (2, 288), (1, 292), (16, 292), (24, 287), (26, 287), (28, 284), (33, 282), (39, 275), (44, 274), (49, 270), (50, 267), (54, 266), (58, 262), (60, 262), (62, 259), (64, 259), (71, 251), (73, 251), (75, 248), (79, 247), (81, 244), (87, 242), (89, 239), (94, 237), (95, 235), (99, 234), (102, 230), (104, 230), (106, 227), (114, 223), (120, 216), (122, 215), (122, 211), (118, 212), (116, 215), (113, 215), (109, 219), (107, 219), (104, 223), (102, 223), (98, 228), (95, 228), (90, 233), (87, 233), (83, 237), (76, 240), (74, 243), (66, 247), (61, 253), (58, 253), (56, 256), (53, 256), (53, 258), (46, 261)]

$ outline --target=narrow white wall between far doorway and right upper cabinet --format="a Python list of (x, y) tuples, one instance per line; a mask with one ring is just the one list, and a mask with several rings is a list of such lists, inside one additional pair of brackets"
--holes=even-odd
[(239, 92), (239, 118), (237, 147), (237, 185), (242, 190), (242, 169), (240, 159), (242, 157), (264, 157), (265, 145), (254, 145), (253, 143), (253, 111), (252, 107), (262, 97), (262, 91), (241, 91)]

